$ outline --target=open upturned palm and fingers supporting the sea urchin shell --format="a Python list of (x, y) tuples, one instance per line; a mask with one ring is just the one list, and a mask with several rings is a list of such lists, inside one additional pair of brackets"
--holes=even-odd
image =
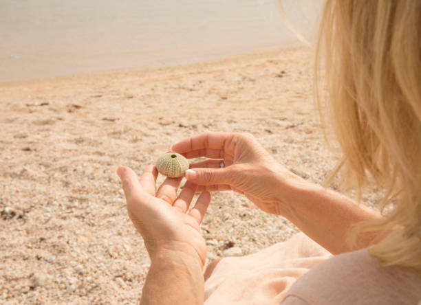
[[(142, 234), (151, 261), (155, 258), (180, 254), (197, 258), (202, 268), (206, 260), (206, 242), (199, 233), (210, 202), (210, 194), (203, 193), (187, 213), (197, 185), (187, 182), (177, 196), (181, 178), (166, 178), (155, 192), (158, 170), (147, 166), (138, 179), (130, 168), (117, 170), (127, 201), (127, 211), (133, 225)], [(159, 260), (159, 258), (158, 258)]]

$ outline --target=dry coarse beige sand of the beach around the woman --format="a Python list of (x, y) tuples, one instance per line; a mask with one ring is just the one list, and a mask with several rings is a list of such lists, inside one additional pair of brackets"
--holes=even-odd
[[(312, 101), (312, 66), (310, 49), (292, 48), (0, 84), (0, 303), (136, 304), (149, 258), (115, 170), (140, 172), (189, 135), (252, 133), (321, 183), (336, 158)], [(213, 194), (202, 225), (210, 260), (295, 231), (233, 192)]]

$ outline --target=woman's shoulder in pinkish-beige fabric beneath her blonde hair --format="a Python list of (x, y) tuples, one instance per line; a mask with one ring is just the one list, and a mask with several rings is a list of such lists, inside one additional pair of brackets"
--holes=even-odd
[(367, 249), (334, 256), (301, 276), (281, 304), (402, 304), (421, 299), (421, 278), (383, 267)]

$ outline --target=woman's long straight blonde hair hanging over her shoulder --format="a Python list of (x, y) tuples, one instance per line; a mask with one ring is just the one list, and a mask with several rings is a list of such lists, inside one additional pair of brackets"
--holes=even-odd
[[(391, 231), (369, 247), (387, 266), (421, 275), (421, 0), (326, 0), (316, 58), (324, 59), (327, 109), (359, 192), (386, 190), (379, 221), (358, 233)], [(321, 56), (323, 55), (323, 56)], [(324, 108), (316, 87), (319, 109)], [(385, 207), (391, 207), (385, 212)], [(398, 229), (396, 229), (398, 228)]]

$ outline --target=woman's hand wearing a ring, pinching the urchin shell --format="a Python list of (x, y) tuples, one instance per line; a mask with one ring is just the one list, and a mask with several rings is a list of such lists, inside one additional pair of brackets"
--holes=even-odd
[(295, 186), (306, 183), (247, 133), (202, 133), (174, 144), (171, 150), (186, 158), (211, 158), (192, 163), (186, 171), (186, 179), (199, 185), (199, 192), (234, 190), (270, 214), (285, 216)]

